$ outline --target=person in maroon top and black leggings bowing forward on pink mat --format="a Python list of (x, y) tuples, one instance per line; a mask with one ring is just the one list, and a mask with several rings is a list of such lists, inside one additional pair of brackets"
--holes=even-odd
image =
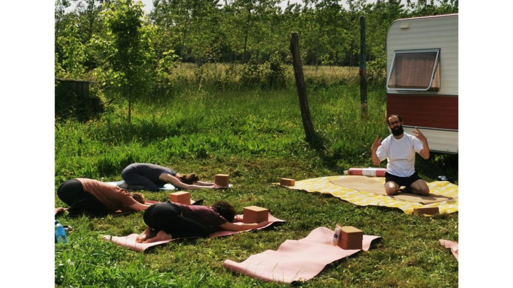
[(173, 238), (206, 238), (220, 229), (242, 231), (264, 227), (268, 223), (267, 220), (259, 223), (232, 223), (234, 218), (235, 209), (226, 201), (215, 202), (212, 207), (169, 201), (157, 203), (144, 212), (143, 219), (148, 227), (137, 236), (136, 241), (151, 243)]

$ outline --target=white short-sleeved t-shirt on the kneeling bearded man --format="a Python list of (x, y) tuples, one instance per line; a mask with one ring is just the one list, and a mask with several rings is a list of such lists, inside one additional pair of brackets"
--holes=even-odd
[(386, 172), (399, 177), (409, 177), (415, 173), (415, 153), (423, 148), (417, 137), (404, 133), (401, 139), (390, 134), (376, 150), (376, 155), (383, 161), (387, 159)]

